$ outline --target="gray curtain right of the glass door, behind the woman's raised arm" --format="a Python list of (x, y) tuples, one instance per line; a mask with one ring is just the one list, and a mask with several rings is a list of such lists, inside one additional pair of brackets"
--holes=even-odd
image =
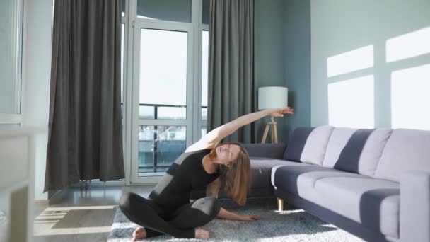
[[(209, 11), (208, 132), (257, 110), (254, 0), (211, 0)], [(223, 141), (255, 143), (254, 123)]]

